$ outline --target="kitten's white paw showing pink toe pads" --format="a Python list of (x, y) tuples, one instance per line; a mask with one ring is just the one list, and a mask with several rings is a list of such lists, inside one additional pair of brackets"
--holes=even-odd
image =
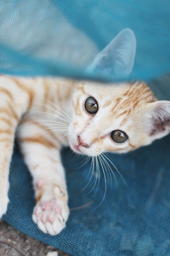
[(68, 214), (66, 202), (57, 198), (41, 199), (35, 206), (33, 220), (44, 233), (54, 236), (66, 226)]

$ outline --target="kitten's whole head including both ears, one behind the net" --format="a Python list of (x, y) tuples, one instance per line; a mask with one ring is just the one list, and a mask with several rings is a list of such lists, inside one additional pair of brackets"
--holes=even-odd
[[(135, 50), (134, 33), (124, 29), (88, 69), (127, 76), (133, 67)], [(79, 82), (73, 109), (69, 142), (76, 153), (126, 153), (170, 132), (170, 102), (157, 101), (143, 82)]]

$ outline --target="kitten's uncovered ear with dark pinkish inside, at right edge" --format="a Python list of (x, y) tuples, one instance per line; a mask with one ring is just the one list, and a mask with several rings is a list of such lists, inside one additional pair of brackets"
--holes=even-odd
[(164, 137), (170, 132), (170, 101), (150, 103), (148, 127), (152, 141)]

